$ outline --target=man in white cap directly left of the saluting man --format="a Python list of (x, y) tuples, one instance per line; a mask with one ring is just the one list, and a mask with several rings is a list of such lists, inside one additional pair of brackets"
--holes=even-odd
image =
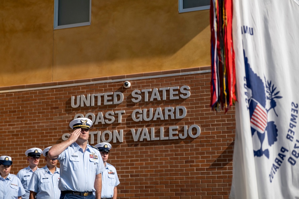
[(45, 156), (46, 166), (37, 169), (31, 177), (28, 185), (30, 191), (29, 199), (59, 199), (60, 190), (58, 188), (58, 181), (60, 178), (60, 169), (57, 168), (58, 160), (52, 160), (48, 156), (48, 151), (51, 146), (42, 151)]

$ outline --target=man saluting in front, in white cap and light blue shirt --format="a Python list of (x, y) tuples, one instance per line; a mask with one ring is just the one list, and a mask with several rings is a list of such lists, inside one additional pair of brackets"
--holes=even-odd
[(89, 118), (74, 119), (70, 123), (74, 131), (68, 139), (49, 149), (49, 158), (60, 162), (60, 198), (94, 199), (93, 192), (97, 199), (101, 198), (101, 173), (105, 167), (98, 149), (87, 144), (91, 126)]

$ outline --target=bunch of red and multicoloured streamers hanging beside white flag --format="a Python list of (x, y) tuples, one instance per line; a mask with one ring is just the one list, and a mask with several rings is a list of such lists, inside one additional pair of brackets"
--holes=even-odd
[(232, 40), (232, 0), (211, 0), (211, 103), (214, 111), (225, 108), (225, 112), (234, 104), (235, 63)]

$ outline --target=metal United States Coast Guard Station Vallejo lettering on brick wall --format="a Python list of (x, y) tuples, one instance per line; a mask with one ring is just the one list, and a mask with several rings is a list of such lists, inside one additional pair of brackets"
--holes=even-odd
[[(190, 97), (190, 87), (189, 86), (176, 86), (176, 87), (162, 87), (153, 89), (142, 89), (133, 90), (131, 93), (132, 98), (130, 101), (132, 103), (138, 102), (153, 102), (153, 101), (166, 101), (166, 100), (178, 100), (187, 99)], [(71, 96), (71, 107), (94, 107), (112, 104), (121, 104), (124, 101), (124, 96), (122, 92), (105, 92), (105, 93), (95, 93), (87, 95), (77, 95)], [(150, 122), (150, 121), (171, 121), (174, 119), (183, 119), (187, 115), (187, 109), (184, 106), (176, 107), (158, 107), (155, 110), (148, 107), (137, 107), (136, 109), (130, 110), (132, 112), (130, 117), (135, 122)], [(74, 116), (74, 119), (85, 117), (90, 118), (94, 126), (98, 124), (112, 124), (112, 123), (123, 123), (125, 115), (125, 110), (89, 112), (86, 115), (78, 113)], [(147, 141), (158, 141), (158, 140), (175, 140), (175, 139), (185, 139), (187, 136), (191, 138), (197, 138), (200, 135), (200, 127), (196, 124), (190, 126), (167, 126), (164, 127), (150, 127), (150, 128), (132, 128), (128, 132), (132, 133), (135, 142)], [(165, 132), (167, 129), (167, 132)], [(179, 133), (178, 130), (183, 129), (183, 133)], [(158, 133), (157, 133), (158, 132)], [(91, 143), (94, 144), (94, 138), (97, 136), (97, 142), (110, 142), (113, 143), (123, 142), (123, 129), (101, 131), (90, 131)], [(159, 134), (159, 135), (157, 135)], [(62, 140), (66, 140), (69, 134), (65, 133), (62, 135)]]

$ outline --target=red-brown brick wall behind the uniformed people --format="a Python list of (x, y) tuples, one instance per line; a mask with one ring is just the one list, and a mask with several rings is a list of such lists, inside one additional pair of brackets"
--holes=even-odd
[[(123, 87), (126, 80), (131, 82), (128, 89)], [(166, 90), (166, 99), (163, 100), (160, 90), (158, 95), (161, 100), (155, 95), (151, 101), (151, 92), (149, 100), (146, 100), (144, 92), (141, 92), (141, 101), (132, 101), (135, 99), (132, 96), (134, 90), (183, 86), (190, 87), (190, 97), (181, 98), (180, 90), (175, 89), (173, 96), (178, 99), (170, 99)], [(122, 103), (107, 105), (102, 97), (101, 105), (71, 107), (71, 96), (109, 92), (122, 93)], [(122, 111), (121, 122), (115, 117), (111, 124), (108, 124), (109, 119), (105, 124), (99, 121), (94, 124), (91, 129), (91, 132), (97, 132), (94, 143), (91, 136), (89, 139), (89, 143), (95, 145), (98, 134), (109, 131), (114, 135), (114, 130), (118, 133), (123, 131), (123, 142), (118, 139), (110, 141), (112, 149), (108, 160), (116, 167), (120, 178), (118, 198), (228, 198), (232, 178), (235, 111), (234, 107), (227, 114), (211, 111), (209, 67), (1, 87), (0, 98), (0, 155), (13, 158), (13, 174), (28, 166), (25, 157), (27, 149), (44, 149), (62, 142), (62, 135), (71, 132), (68, 125), (76, 114), (93, 113), (97, 117), (102, 113), (103, 118), (107, 119), (106, 112)], [(186, 116), (165, 119), (165, 107), (175, 110), (177, 106), (186, 108)], [(153, 109), (153, 115), (157, 108), (161, 108), (162, 115), (158, 115), (156, 120), (133, 120), (134, 110), (150, 108)], [(182, 114), (182, 110), (179, 114)], [(200, 127), (198, 137), (188, 135), (185, 139), (178, 138), (179, 134), (184, 134), (184, 128), (192, 125)], [(148, 141), (144, 129), (147, 129), (150, 137), (150, 130), (154, 128), (154, 136), (161, 137), (161, 127), (164, 128), (161, 131), (163, 137), (171, 137), (169, 127), (177, 127), (173, 129), (173, 139)], [(135, 132), (141, 129), (137, 141), (134, 141), (131, 129)], [(192, 128), (192, 135), (196, 132)], [(103, 139), (107, 140), (108, 135), (106, 133)], [(39, 167), (44, 165), (42, 156)]]

